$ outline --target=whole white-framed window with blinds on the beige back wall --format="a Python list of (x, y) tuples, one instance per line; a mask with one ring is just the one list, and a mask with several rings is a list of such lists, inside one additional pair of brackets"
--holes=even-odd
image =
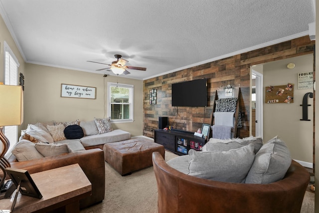
[(108, 117), (112, 122), (133, 122), (134, 86), (108, 82)]

